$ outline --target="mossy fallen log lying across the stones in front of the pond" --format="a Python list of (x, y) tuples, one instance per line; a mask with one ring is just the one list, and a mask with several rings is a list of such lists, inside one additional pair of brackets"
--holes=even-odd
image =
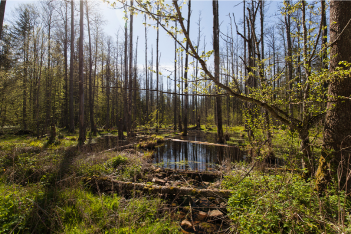
[(188, 187), (158, 186), (144, 183), (132, 183), (111, 179), (113, 187), (119, 187), (121, 190), (139, 190), (151, 194), (173, 194), (184, 196), (204, 196), (204, 197), (221, 197), (228, 198), (232, 195), (232, 190), (225, 189), (198, 189)]

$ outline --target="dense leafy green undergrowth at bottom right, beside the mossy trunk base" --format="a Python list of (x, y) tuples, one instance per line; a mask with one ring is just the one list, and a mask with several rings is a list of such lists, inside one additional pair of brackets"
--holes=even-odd
[(334, 223), (337, 220), (349, 225), (351, 203), (343, 192), (329, 188), (325, 196), (318, 196), (312, 181), (289, 173), (265, 177), (254, 173), (234, 186), (239, 179), (224, 180), (233, 190), (228, 210), (238, 233), (335, 233), (343, 228)]

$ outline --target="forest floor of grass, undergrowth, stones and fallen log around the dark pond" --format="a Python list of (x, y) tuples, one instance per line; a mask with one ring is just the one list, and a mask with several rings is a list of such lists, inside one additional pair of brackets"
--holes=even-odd
[[(211, 128), (207, 131), (214, 132)], [(241, 138), (245, 134), (241, 126), (231, 131)], [(139, 141), (118, 144), (132, 143), (129, 149), (113, 144), (109, 150), (111, 140), (105, 144), (100, 139), (115, 131), (100, 131), (90, 146), (88, 140), (80, 147), (78, 135), (65, 131), (58, 130), (50, 143), (49, 136), (15, 132), (0, 136), (0, 233), (351, 231), (349, 196), (336, 184), (318, 194), (314, 180), (301, 177), (293, 150), (298, 139), (281, 129), (275, 131), (273, 145), (285, 154), (283, 165), (243, 160), (212, 172), (160, 168), (148, 150), (136, 148), (142, 146)], [(177, 132), (168, 128), (158, 134), (151, 137), (156, 144)], [(317, 142), (318, 131), (314, 135)], [(237, 142), (233, 137), (228, 143), (245, 149), (254, 144)]]

